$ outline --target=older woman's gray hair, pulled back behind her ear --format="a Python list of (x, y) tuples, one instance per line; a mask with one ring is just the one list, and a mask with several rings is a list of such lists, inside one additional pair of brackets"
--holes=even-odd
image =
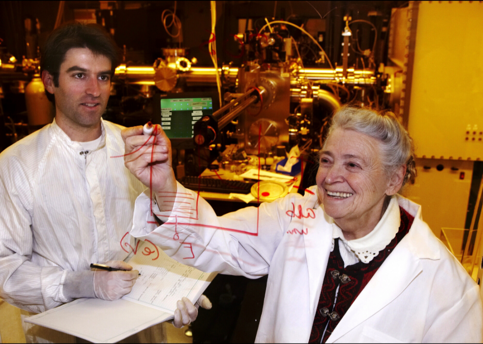
[(407, 182), (414, 184), (416, 162), (413, 139), (392, 112), (377, 112), (369, 108), (345, 105), (332, 117), (327, 138), (336, 128), (354, 130), (378, 140), (381, 143), (382, 164), (388, 175), (405, 164), (403, 186)]

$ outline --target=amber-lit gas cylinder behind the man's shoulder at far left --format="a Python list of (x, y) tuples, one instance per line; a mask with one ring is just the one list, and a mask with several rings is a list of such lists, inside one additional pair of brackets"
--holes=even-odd
[(31, 127), (52, 123), (55, 116), (55, 107), (45, 95), (39, 74), (34, 74), (32, 81), (25, 87), (25, 103)]

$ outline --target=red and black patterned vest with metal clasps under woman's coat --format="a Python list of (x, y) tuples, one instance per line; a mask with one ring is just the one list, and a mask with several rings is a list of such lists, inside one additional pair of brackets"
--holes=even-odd
[[(401, 213), (401, 225), (396, 236), (368, 264), (358, 262), (344, 268), (344, 260), (339, 251), (339, 238), (335, 239), (334, 250), (330, 253), (327, 263), (309, 343), (325, 343), (327, 341), (362, 289), (371, 281), (384, 260), (409, 232), (414, 217), (401, 207), (399, 207), (399, 212)], [(336, 299), (337, 289), (339, 289), (339, 292)]]

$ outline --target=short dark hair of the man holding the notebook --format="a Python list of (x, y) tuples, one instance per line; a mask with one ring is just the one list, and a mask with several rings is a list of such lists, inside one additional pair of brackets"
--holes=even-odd
[[(49, 35), (40, 59), (40, 73), (48, 71), (53, 76), (55, 87), (59, 87), (60, 66), (72, 48), (88, 48), (94, 54), (107, 57), (111, 61), (111, 76), (120, 62), (119, 48), (101, 26), (80, 23), (63, 25)], [(45, 94), (55, 104), (54, 94), (47, 90)]]

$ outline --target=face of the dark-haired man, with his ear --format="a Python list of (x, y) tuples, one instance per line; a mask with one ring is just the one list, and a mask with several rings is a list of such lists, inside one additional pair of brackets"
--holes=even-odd
[(99, 125), (110, 94), (111, 62), (88, 48), (72, 48), (59, 70), (55, 95), (56, 116), (70, 126)]

